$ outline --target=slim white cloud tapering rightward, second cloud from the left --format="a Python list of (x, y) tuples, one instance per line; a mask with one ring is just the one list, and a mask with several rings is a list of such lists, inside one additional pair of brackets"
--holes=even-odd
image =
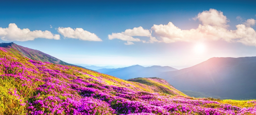
[(67, 38), (74, 38), (86, 41), (102, 41), (96, 34), (90, 33), (82, 28), (72, 29), (70, 27), (59, 27), (58, 32)]

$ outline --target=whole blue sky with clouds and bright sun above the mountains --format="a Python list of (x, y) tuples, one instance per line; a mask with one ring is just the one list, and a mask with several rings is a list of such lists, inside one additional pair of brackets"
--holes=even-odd
[(256, 56), (256, 1), (1, 1), (0, 42), (71, 64), (193, 66)]

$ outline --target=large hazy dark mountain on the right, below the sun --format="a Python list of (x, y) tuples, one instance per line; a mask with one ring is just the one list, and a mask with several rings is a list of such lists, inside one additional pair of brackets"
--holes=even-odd
[(213, 57), (155, 77), (165, 79), (178, 90), (204, 92), (223, 99), (256, 99), (256, 57)]

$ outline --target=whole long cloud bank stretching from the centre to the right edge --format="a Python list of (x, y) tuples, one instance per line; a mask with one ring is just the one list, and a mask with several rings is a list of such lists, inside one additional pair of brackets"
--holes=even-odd
[[(112, 33), (108, 35), (109, 39), (121, 39), (127, 41), (126, 45), (133, 44), (131, 41), (142, 41), (143, 43), (164, 42), (173, 43), (178, 41), (196, 42), (198, 40), (225, 40), (228, 42), (241, 42), (245, 45), (256, 46), (256, 31), (252, 28), (256, 24), (255, 19), (244, 19), (237, 16), (237, 20), (242, 24), (236, 25), (235, 30), (229, 30), (229, 19), (223, 12), (216, 9), (209, 9), (198, 13), (193, 20), (198, 20), (199, 24), (196, 29), (182, 30), (176, 27), (172, 22), (166, 25), (153, 25), (150, 30), (142, 27), (127, 29), (121, 33)], [(154, 37), (151, 35), (153, 32)], [(148, 41), (134, 38), (133, 36), (149, 37)], [(129, 42), (128, 42), (129, 41)], [(130, 43), (131, 42), (131, 43)]]

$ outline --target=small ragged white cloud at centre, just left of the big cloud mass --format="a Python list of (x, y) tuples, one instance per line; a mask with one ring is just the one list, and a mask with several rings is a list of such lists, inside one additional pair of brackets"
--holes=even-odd
[(125, 45), (131, 45), (131, 44), (128, 43), (128, 41), (129, 42), (130, 41), (142, 41), (143, 43), (145, 42), (144, 40), (141, 40), (139, 38), (134, 38), (132, 36), (150, 37), (151, 36), (151, 30), (143, 29), (140, 26), (140, 27), (134, 27), (133, 29), (126, 29), (124, 32), (121, 32), (121, 33), (112, 33), (111, 35), (108, 35), (110, 40), (112, 40), (112, 39), (121, 39), (123, 41), (127, 41), (127, 43), (125, 43)]

